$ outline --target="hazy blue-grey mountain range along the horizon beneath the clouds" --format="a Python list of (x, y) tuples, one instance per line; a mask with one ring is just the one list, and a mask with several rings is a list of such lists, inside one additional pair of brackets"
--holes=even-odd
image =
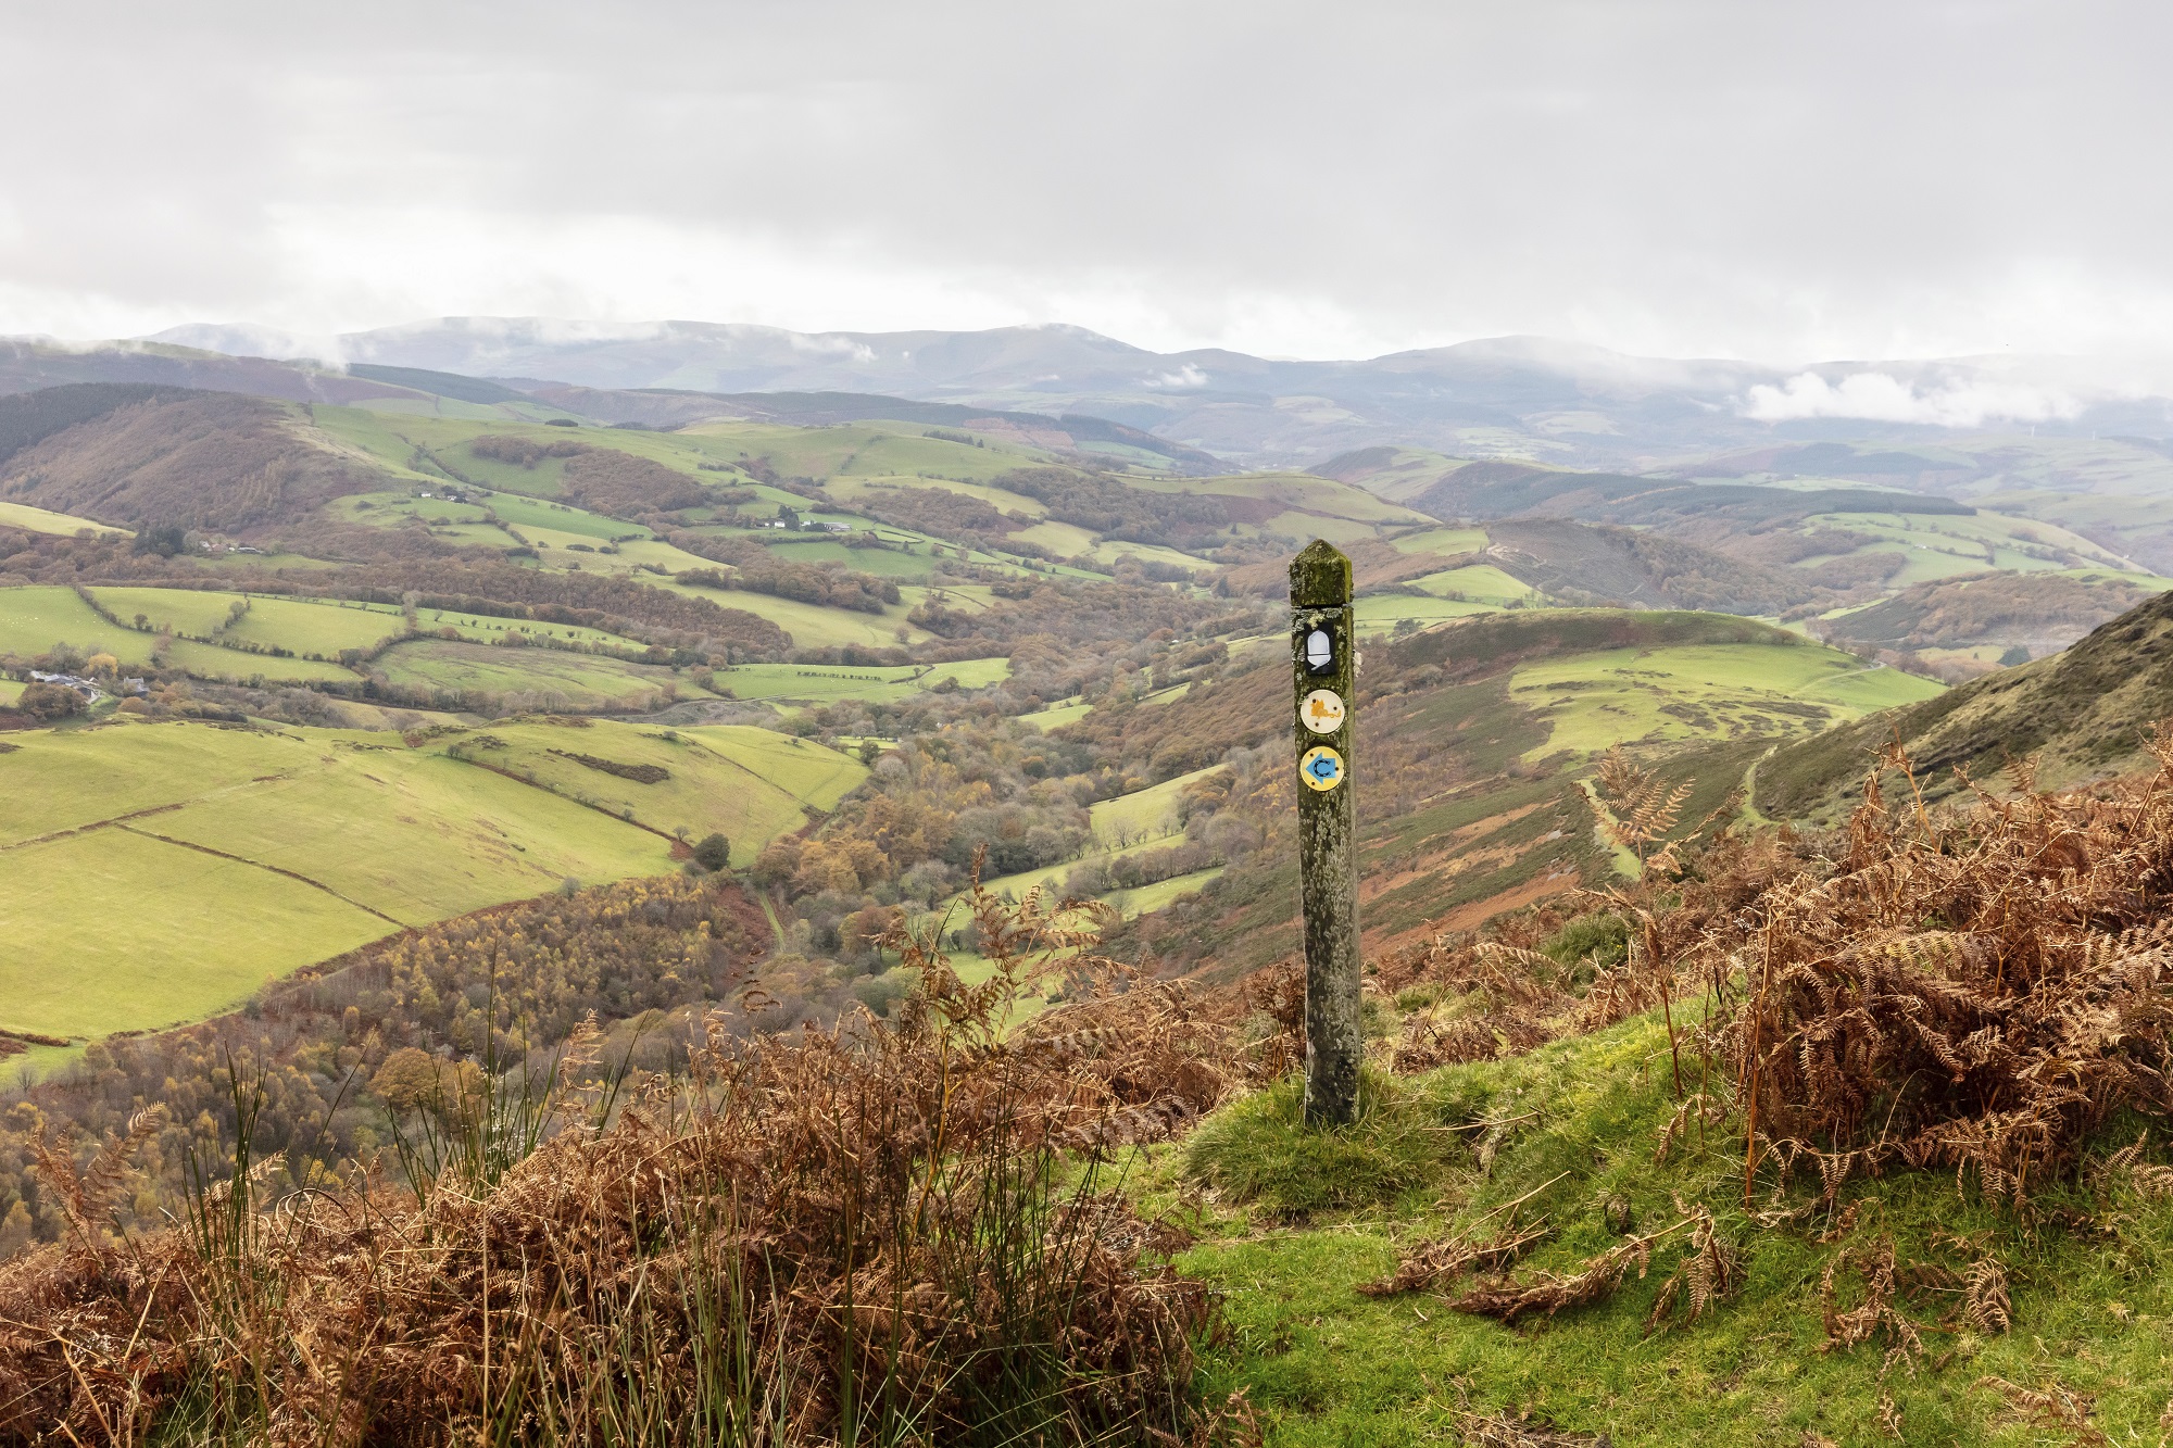
[(1299, 361), (1223, 348), (1154, 352), (1056, 324), (791, 333), (737, 322), (548, 317), (441, 317), (317, 341), (183, 326), (150, 341), (613, 391), (843, 391), (1082, 413), (1256, 467), (1406, 446), (1647, 472), (1714, 452), (2010, 426), (2001, 417), (2017, 420), (2014, 430), (2173, 437), (2173, 385), (2110, 385), (2062, 359), (1778, 367), (1493, 337), (1362, 361)]

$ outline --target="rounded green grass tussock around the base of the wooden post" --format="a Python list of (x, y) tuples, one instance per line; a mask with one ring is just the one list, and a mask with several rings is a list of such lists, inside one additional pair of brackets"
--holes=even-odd
[(1469, 1154), (1425, 1102), (1391, 1076), (1358, 1076), (1358, 1120), (1306, 1126), (1304, 1081), (1286, 1078), (1208, 1120), (1184, 1170), (1226, 1200), (1282, 1220), (1389, 1207), (1425, 1194), (1449, 1157)]

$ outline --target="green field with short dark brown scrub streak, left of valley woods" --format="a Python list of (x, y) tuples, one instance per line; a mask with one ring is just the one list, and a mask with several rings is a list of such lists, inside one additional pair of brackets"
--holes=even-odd
[[(465, 761), (511, 770), (554, 796), (665, 835), (724, 835), (741, 865), (774, 837), (806, 824), (804, 804), (828, 811), (867, 778), (858, 759), (741, 726), (663, 731), (602, 720), (587, 728), (524, 722), (478, 731), (452, 748)], [(667, 778), (639, 783), (569, 754), (658, 765)]]

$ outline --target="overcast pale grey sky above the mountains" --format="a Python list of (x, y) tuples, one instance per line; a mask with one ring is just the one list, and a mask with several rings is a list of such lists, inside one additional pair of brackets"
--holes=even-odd
[(7, 7), (0, 330), (2173, 354), (2173, 7)]

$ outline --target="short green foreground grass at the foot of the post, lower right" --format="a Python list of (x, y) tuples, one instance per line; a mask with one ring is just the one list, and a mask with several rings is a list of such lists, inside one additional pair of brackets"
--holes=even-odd
[[(1888, 1437), (1882, 1396), (1893, 1398), (1906, 1441), (2019, 1446), (2069, 1439), (2047, 1439), (1977, 1378), (2025, 1387), (2058, 1378), (2097, 1394), (2095, 1422), (2110, 1441), (2158, 1441), (2173, 1396), (2162, 1339), (2173, 1315), (2162, 1272), (2173, 1204), (2130, 1198), (2119, 1233), (2093, 1239), (2032, 1233), (1964, 1198), (1945, 1172), (1851, 1187), (1864, 1207), (1838, 1246), (1893, 1233), (1904, 1257), (1927, 1259), (1940, 1254), (1940, 1237), (1973, 1237), (2008, 1259), (2017, 1283), (2014, 1331), (1925, 1331), (1930, 1352), (1886, 1370), (1882, 1344), (1825, 1350), (1819, 1281), (1838, 1248), (1819, 1233), (1830, 1218), (1754, 1231), (1741, 1211), (1734, 1139), (1699, 1150), (1693, 1137), (1654, 1163), (1673, 1113), (1665, 1068), (1665, 1026), (1636, 1018), (1528, 1057), (1371, 1083), (1365, 1120), (1343, 1133), (1299, 1128), (1297, 1085), (1282, 1083), (1213, 1115), (1189, 1146), (1160, 1150), (1163, 1200), (1173, 1204), (1186, 1181), (1215, 1187), (1186, 1213), (1204, 1241), (1180, 1259), (1226, 1294), (1228, 1335), (1204, 1361), (1206, 1396), (1243, 1389), (1278, 1446), (1467, 1441), (1465, 1400), (1606, 1433), (1623, 1448), (1797, 1448), (1812, 1433), (1869, 1444)], [(1482, 1168), (1469, 1144), (1489, 1120), (1508, 1126)], [(1602, 1211), (1610, 1198), (1632, 1231), (1649, 1233), (1675, 1220), (1671, 1198), (1682, 1194), (1708, 1202), (1745, 1252), (1745, 1287), (1704, 1322), (1649, 1333), (1660, 1281), (1682, 1259), (1671, 1244), (1654, 1248), (1651, 1272), (1612, 1298), (1517, 1328), (1456, 1313), (1428, 1291), (1356, 1291), (1415, 1241), (1482, 1224), (1534, 1189), (1521, 1220), (1545, 1215), (1554, 1237), (1521, 1272), (1571, 1274), (1621, 1241)], [(1938, 1309), (1910, 1315), (1927, 1324)]]

